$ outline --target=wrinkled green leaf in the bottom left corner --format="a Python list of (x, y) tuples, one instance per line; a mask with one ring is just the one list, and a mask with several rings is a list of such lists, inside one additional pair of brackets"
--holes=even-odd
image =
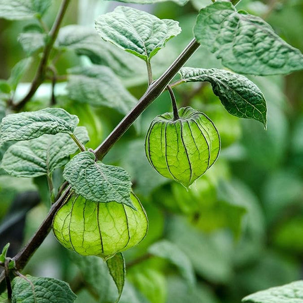
[(12, 287), (12, 303), (72, 303), (77, 297), (66, 282), (53, 278), (16, 277)]

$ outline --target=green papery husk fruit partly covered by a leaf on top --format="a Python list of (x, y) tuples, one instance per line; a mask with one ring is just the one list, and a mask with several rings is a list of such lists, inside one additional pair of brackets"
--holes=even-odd
[(57, 240), (82, 256), (107, 260), (145, 237), (147, 217), (139, 199), (130, 194), (137, 211), (116, 202), (96, 203), (72, 193), (53, 221)]

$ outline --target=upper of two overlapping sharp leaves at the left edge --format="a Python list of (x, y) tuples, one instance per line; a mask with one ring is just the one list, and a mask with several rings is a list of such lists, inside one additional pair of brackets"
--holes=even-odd
[(6, 141), (22, 141), (43, 134), (72, 134), (79, 119), (63, 109), (47, 108), (36, 112), (11, 114), (0, 124), (0, 145)]

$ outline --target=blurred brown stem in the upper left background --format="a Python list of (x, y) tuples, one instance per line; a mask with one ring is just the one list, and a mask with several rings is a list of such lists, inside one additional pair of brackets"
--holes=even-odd
[(65, 15), (65, 12), (67, 10), (69, 3), (70, 3), (70, 0), (62, 1), (60, 10), (59, 10), (56, 20), (53, 24), (53, 27), (48, 33), (47, 42), (46, 42), (46, 45), (43, 50), (42, 58), (39, 63), (35, 77), (32, 81), (29, 92), (18, 104), (16, 104), (16, 105), (12, 104), (13, 110), (18, 111), (18, 112), (20, 110), (22, 110), (24, 105), (31, 99), (31, 97), (35, 94), (35, 92), (38, 89), (38, 87), (40, 86), (40, 84), (44, 81), (48, 57), (49, 57), (49, 54), (51, 54), (53, 45), (55, 43), (55, 40), (56, 40), (58, 32), (59, 32), (61, 22), (63, 20), (63, 17)]

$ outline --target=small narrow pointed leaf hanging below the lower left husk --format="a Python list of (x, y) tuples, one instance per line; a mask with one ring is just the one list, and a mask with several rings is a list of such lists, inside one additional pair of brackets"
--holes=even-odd
[(125, 282), (125, 261), (122, 253), (116, 254), (113, 258), (108, 259), (106, 263), (118, 289), (119, 296), (116, 300), (118, 302)]

